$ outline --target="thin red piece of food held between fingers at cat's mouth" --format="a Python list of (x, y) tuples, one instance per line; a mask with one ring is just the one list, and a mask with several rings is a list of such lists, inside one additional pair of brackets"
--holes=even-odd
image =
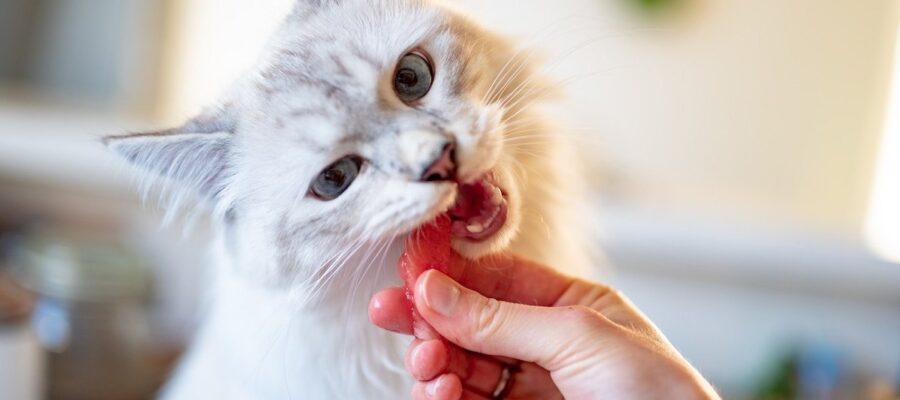
[(454, 258), (450, 243), (452, 224), (450, 217), (444, 214), (434, 222), (413, 231), (406, 240), (406, 249), (397, 264), (397, 272), (406, 285), (406, 298), (409, 301), (410, 312), (413, 314), (413, 333), (419, 339), (440, 337), (431, 326), (422, 320), (416, 310), (413, 291), (416, 280), (425, 271), (436, 269), (447, 273), (448, 266)]

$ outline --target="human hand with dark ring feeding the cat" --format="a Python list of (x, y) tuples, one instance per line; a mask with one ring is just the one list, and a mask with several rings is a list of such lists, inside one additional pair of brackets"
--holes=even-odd
[[(410, 345), (416, 400), (718, 398), (612, 288), (512, 255), (451, 265), (448, 274), (428, 271), (415, 285), (416, 308), (446, 338)], [(404, 289), (382, 291), (370, 318), (411, 334), (406, 304)]]

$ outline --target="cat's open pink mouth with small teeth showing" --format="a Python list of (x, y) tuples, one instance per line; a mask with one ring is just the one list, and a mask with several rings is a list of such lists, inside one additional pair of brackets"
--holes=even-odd
[(499, 187), (482, 179), (459, 184), (456, 204), (448, 214), (453, 221), (453, 235), (473, 242), (487, 240), (503, 228), (509, 206)]

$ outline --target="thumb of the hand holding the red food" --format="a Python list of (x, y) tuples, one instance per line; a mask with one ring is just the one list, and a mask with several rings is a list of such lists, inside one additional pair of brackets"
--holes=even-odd
[(487, 298), (434, 270), (417, 281), (415, 301), (422, 317), (454, 344), (549, 371), (589, 353), (598, 344), (599, 330), (612, 326), (586, 307), (537, 307)]

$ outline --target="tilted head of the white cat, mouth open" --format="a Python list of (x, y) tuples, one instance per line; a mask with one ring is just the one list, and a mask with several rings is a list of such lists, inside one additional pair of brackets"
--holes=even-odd
[(308, 276), (461, 192), (454, 246), (478, 257), (522, 219), (507, 140), (542, 89), (527, 61), (435, 2), (304, 0), (220, 105), (107, 143), (209, 199), (269, 274)]

